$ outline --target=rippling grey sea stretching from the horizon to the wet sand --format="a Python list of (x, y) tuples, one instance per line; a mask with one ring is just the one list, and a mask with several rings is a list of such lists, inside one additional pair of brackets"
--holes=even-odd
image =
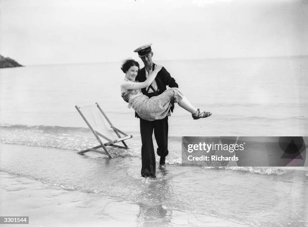
[[(308, 226), (308, 167), (181, 165), (182, 136), (308, 136), (308, 57), (155, 63), (194, 106), (212, 112), (193, 120), (176, 105), (166, 169), (156, 179), (140, 176), (139, 120), (121, 98), (119, 61), (0, 69), (0, 182), (17, 176), (135, 204), (137, 226), (183, 226), (174, 222), (177, 212), (193, 216), (191, 226), (202, 226), (203, 215), (246, 226)], [(113, 159), (76, 154), (98, 141), (75, 105), (95, 103), (133, 135), (128, 150), (110, 148)]]

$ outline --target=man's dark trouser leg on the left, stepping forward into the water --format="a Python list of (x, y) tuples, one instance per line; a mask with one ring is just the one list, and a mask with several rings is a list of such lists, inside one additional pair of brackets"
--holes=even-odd
[(140, 118), (142, 177), (156, 177), (156, 160), (152, 140), (153, 128), (153, 121)]

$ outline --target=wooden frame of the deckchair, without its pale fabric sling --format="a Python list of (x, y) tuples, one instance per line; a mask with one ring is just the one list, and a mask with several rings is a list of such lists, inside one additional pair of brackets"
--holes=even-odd
[[(100, 105), (98, 103), (95, 103), (97, 108), (100, 110), (101, 114), (105, 117), (105, 119), (107, 120), (108, 124), (110, 125), (110, 127), (113, 129), (113, 131), (116, 133), (116, 135), (119, 137), (118, 139), (112, 140), (110, 138), (108, 138), (107, 136), (103, 135), (102, 133), (96, 131), (93, 129), (93, 127), (91, 126), (91, 124), (89, 123), (89, 121), (86, 119), (86, 117), (84, 116), (84, 114), (81, 112), (80, 107), (79, 106), (75, 106), (76, 110), (78, 111), (78, 113), (81, 115), (81, 117), (84, 119), (84, 121), (86, 122), (86, 124), (88, 125), (88, 127), (90, 128), (90, 130), (92, 131), (92, 133), (94, 134), (95, 138), (99, 141), (100, 145), (98, 146), (94, 146), (92, 148), (86, 149), (86, 150), (82, 150), (81, 152), (78, 152), (78, 154), (80, 155), (84, 155), (87, 152), (97, 152), (100, 154), (104, 154), (104, 155), (108, 155), (109, 158), (113, 158), (112, 155), (108, 152), (108, 149), (106, 148), (106, 146), (113, 146), (113, 147), (118, 147), (118, 148), (123, 148), (123, 149), (128, 149), (127, 144), (124, 142), (125, 139), (129, 139), (132, 138), (132, 135), (127, 135), (126, 133), (122, 132), (120, 129), (116, 128), (111, 121), (108, 119), (108, 117), (106, 116), (106, 114), (104, 113), (104, 111), (102, 110), (102, 108), (100, 107)], [(121, 137), (121, 135), (124, 135), (123, 137)], [(101, 138), (106, 139), (108, 142), (103, 143)], [(122, 142), (124, 146), (120, 146), (120, 145), (116, 145), (114, 143), (117, 142)], [(99, 148), (103, 148), (104, 152), (102, 152), (101, 150), (99, 150)]]

